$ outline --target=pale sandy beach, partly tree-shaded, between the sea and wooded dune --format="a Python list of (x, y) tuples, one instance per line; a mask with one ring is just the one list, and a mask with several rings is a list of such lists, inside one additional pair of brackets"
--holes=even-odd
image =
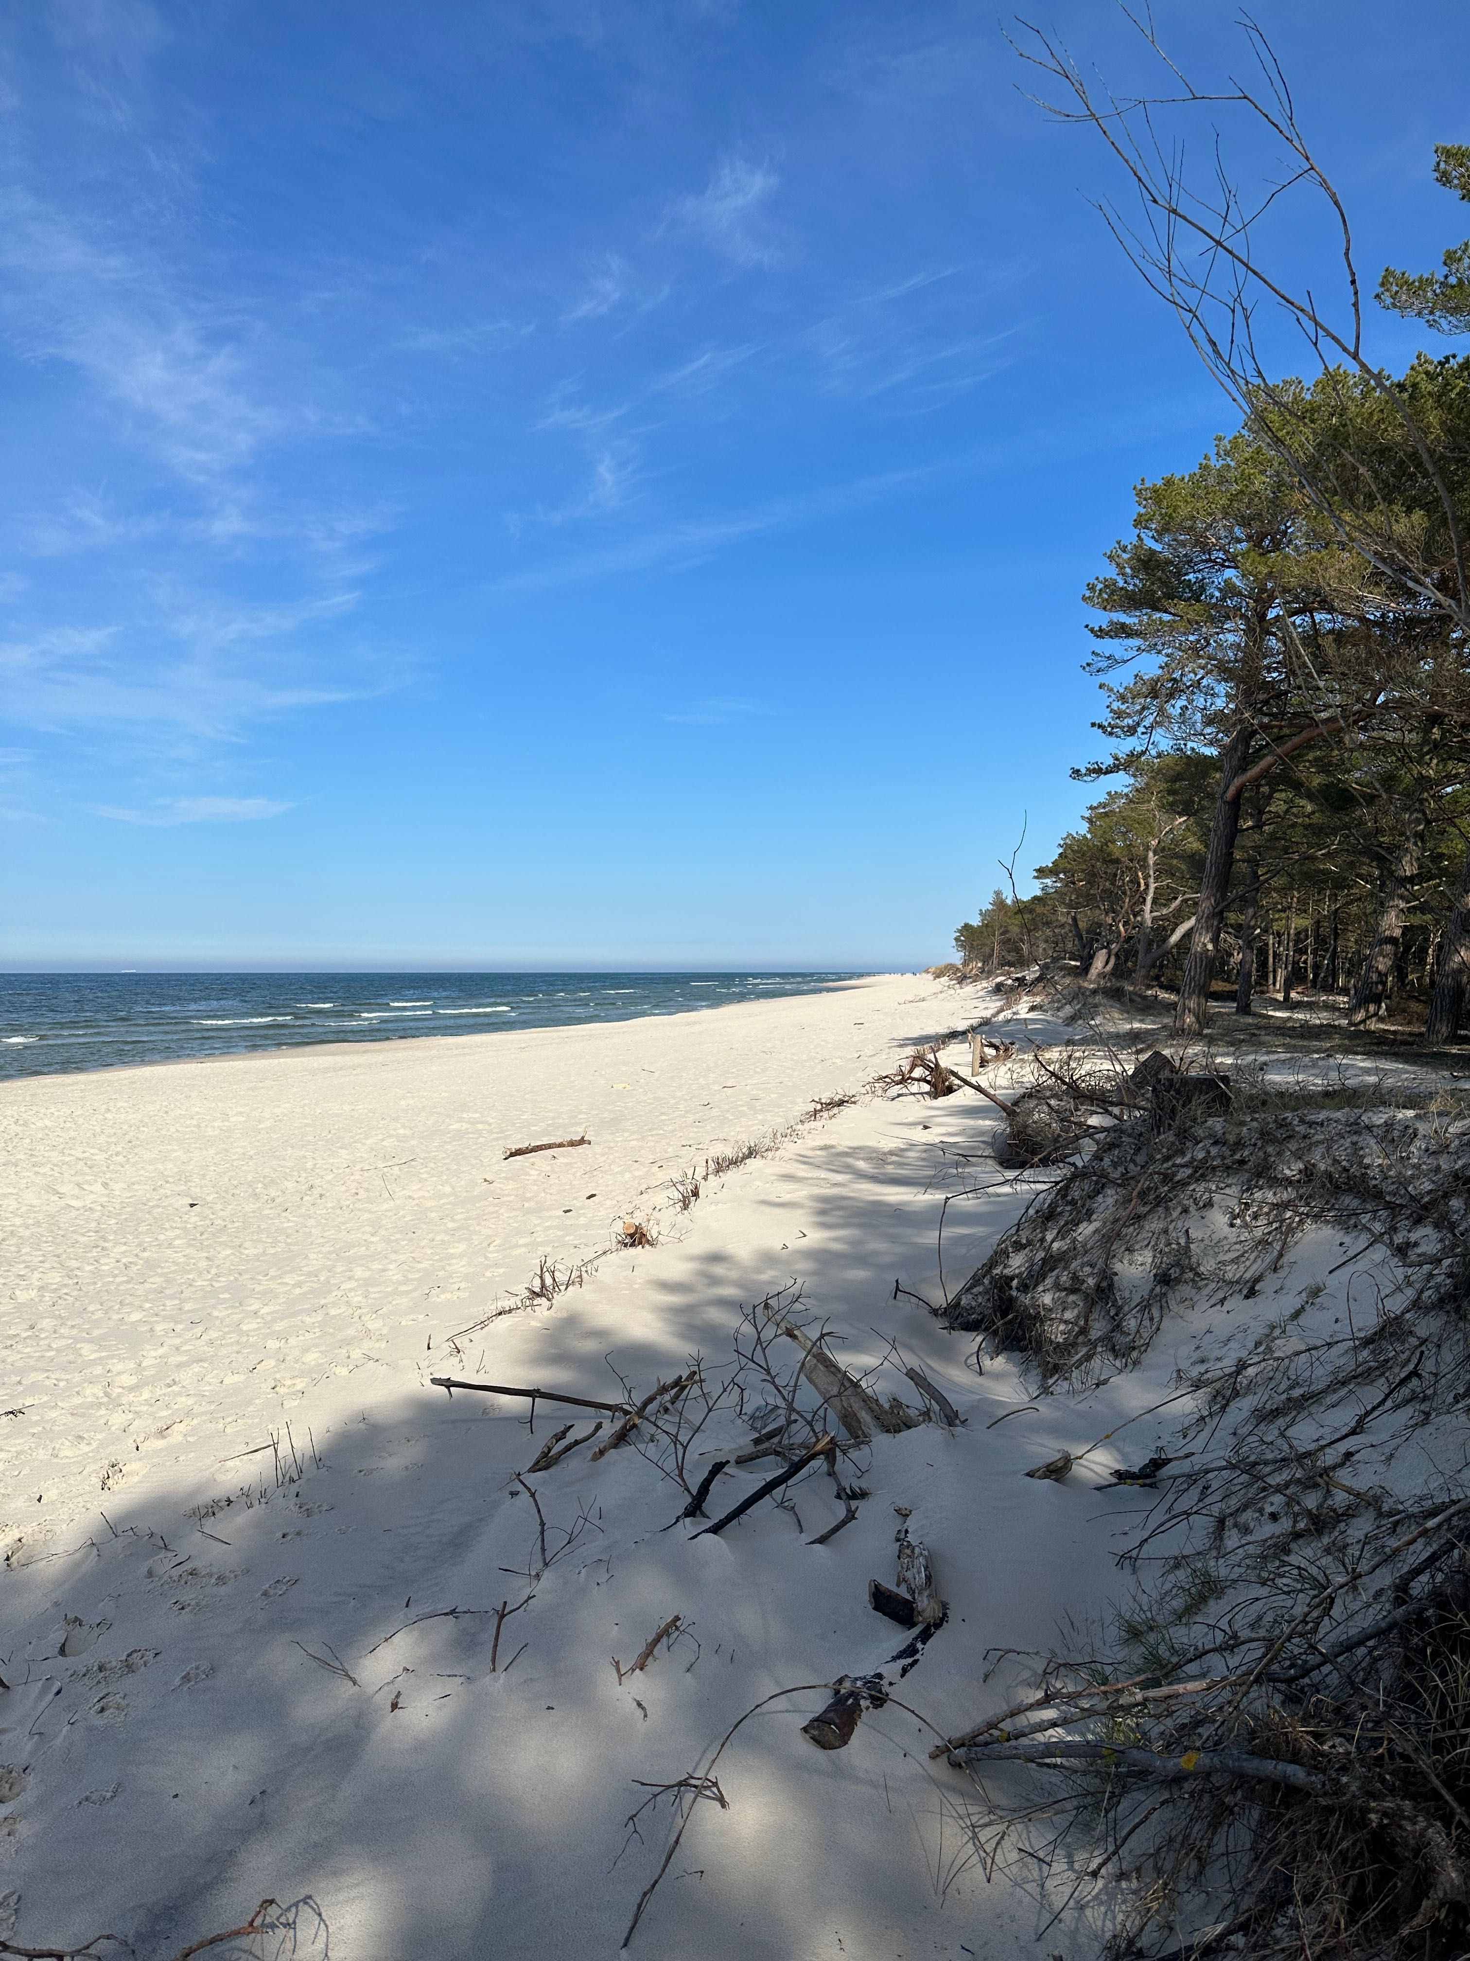
[[(884, 1659), (896, 1630), (866, 1583), (894, 1577), (896, 1504), (951, 1606), (906, 1690), (941, 1730), (1002, 1706), (1011, 1675), (984, 1684), (986, 1651), (1102, 1610), (1113, 1500), (1019, 1473), (1143, 1410), (1152, 1379), (988, 1430), (1025, 1402), (1019, 1375), (976, 1373), (972, 1339), (894, 1298), (896, 1281), (937, 1298), (941, 1206), (978, 1171), (986, 1188), (945, 1220), (951, 1290), (1025, 1204), (1029, 1181), (988, 1161), (994, 1110), (860, 1096), (800, 1122), (956, 1010), (974, 1004), (888, 977), (615, 1026), (6, 1086), (14, 1939), (114, 1930), (169, 1955), (272, 1896), (292, 1932), (221, 1953), (613, 1955), (666, 1845), (666, 1806), (629, 1841), (645, 1785), (708, 1759), (762, 1696)], [(674, 1175), (788, 1126), (688, 1212), (672, 1202)], [(502, 1157), (580, 1131), (586, 1149)], [(659, 1243), (451, 1341), (541, 1255), (606, 1251), (623, 1218)], [(786, 1282), (847, 1361), (900, 1341), (966, 1428), (880, 1437), (857, 1524), (819, 1547), (841, 1516), (825, 1479), (796, 1486), (796, 1512), (766, 1502), (696, 1539), (662, 1530), (684, 1492), (645, 1457), (580, 1451), (533, 1481), (553, 1545), (582, 1524), (492, 1673), (486, 1610), (541, 1565), (514, 1477), (574, 1412), (543, 1404), (529, 1437), (525, 1404), (449, 1400), (429, 1375), (617, 1398), (612, 1365), (643, 1392), (692, 1351), (723, 1365), (741, 1304)], [(913, 1400), (894, 1371), (882, 1386)], [(725, 1457), (751, 1432), (731, 1418), (710, 1435)], [(1145, 1422), (1119, 1449), (1152, 1443)], [(711, 1504), (772, 1469), (729, 1471)], [(682, 1637), (619, 1681), (612, 1657), (625, 1667), (672, 1614)], [(962, 1779), (927, 1761), (933, 1732), (894, 1704), (817, 1751), (800, 1722), (823, 1700), (780, 1698), (745, 1726), (717, 1773), (729, 1810), (698, 1806), (629, 1951), (1035, 1953), (1045, 1914), (986, 1883)]]

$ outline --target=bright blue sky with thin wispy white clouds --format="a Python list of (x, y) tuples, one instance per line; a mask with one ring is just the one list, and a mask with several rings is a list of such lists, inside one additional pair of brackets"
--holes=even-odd
[[(1437, 267), (1470, 12), (1256, 18), (1370, 282)], [(1245, 71), (1235, 6), (1154, 20)], [(4, 0), (0, 965), (947, 959), (1098, 794), (1133, 484), (1231, 426), (1005, 27)]]

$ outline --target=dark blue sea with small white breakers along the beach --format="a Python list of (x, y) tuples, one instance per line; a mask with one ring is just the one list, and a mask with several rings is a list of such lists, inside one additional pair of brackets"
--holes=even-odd
[(0, 975), (0, 1079), (314, 1041), (631, 1022), (847, 975)]

